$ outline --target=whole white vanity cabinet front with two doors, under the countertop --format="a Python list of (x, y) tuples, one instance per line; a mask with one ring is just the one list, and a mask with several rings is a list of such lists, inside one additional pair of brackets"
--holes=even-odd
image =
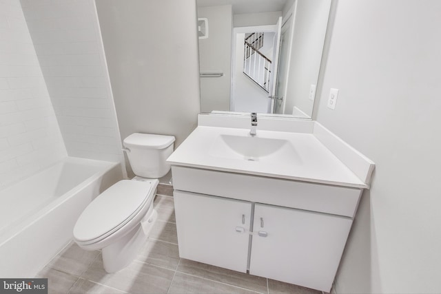
[(172, 173), (181, 258), (331, 290), (361, 189), (191, 167)]

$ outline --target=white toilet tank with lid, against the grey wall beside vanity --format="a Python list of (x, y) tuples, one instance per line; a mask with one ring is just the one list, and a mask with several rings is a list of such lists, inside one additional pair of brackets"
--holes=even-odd
[(173, 152), (174, 136), (134, 133), (124, 139), (130, 166), (136, 176), (161, 178), (170, 171), (168, 156)]

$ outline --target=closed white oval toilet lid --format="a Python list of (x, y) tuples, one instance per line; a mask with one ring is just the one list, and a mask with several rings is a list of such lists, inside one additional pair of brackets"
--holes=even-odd
[(151, 182), (116, 182), (81, 213), (74, 227), (74, 238), (79, 241), (94, 240), (132, 219), (147, 201), (151, 189)]

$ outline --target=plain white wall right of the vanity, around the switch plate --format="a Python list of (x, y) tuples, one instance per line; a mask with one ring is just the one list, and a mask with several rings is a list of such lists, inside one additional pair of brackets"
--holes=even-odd
[(440, 11), (438, 0), (338, 1), (316, 118), (376, 171), (337, 293), (440, 293)]

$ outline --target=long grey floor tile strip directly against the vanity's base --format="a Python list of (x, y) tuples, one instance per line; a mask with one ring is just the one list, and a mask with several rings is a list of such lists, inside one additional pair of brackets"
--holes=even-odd
[(178, 270), (182, 273), (204, 277), (216, 282), (222, 282), (246, 288), (259, 293), (267, 293), (267, 279), (265, 277), (257, 277), (256, 275), (248, 275), (247, 273), (239, 273), (229, 269), (223, 269), (218, 266), (194, 262), (192, 260), (181, 259)]

